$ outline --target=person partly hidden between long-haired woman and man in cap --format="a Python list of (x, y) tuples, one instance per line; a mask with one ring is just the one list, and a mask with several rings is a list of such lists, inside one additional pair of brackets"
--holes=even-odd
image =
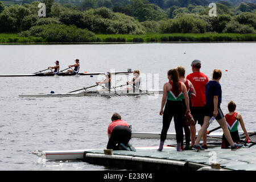
[[(196, 91), (194, 89), (193, 84), (185, 78), (185, 68), (184, 67), (177, 67), (177, 72), (179, 73), (179, 80), (181, 82), (183, 82), (187, 88), (187, 92), (188, 92), (188, 97), (190, 95), (190, 93), (196, 95)], [(187, 106), (185, 104), (185, 98), (184, 96), (182, 96), (182, 102), (183, 102), (183, 107), (184, 107), (184, 111), (187, 110)], [(189, 97), (189, 109), (191, 109), (191, 99)], [(185, 115), (185, 113), (184, 113)], [(185, 133), (185, 140), (186, 140), (186, 146), (184, 148), (184, 150), (191, 150), (190, 147), (190, 130), (189, 127), (185, 124), (185, 121), (183, 122), (183, 128), (184, 128), (184, 133)]]

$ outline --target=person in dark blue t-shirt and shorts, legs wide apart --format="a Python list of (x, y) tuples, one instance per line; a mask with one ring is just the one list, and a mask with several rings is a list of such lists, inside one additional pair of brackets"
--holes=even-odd
[(224, 114), (221, 111), (220, 105), (222, 101), (222, 90), (220, 85), (222, 72), (220, 69), (214, 69), (212, 80), (207, 83), (205, 86), (205, 117), (204, 124), (201, 127), (198, 136), (196, 138), (196, 144), (192, 147), (193, 150), (204, 150), (199, 144), (203, 135), (207, 132), (209, 127), (209, 120), (214, 117), (217, 122), (222, 127), (223, 133), (225, 135), (226, 140), (228, 140), (231, 150), (237, 150), (242, 147), (241, 144), (234, 143), (232, 137), (230, 135), (228, 126), (226, 124), (226, 120)]

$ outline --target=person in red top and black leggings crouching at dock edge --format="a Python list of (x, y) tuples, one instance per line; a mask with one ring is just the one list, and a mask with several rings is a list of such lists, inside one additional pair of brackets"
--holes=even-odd
[(126, 121), (121, 120), (121, 115), (114, 113), (112, 123), (108, 127), (109, 142), (107, 149), (119, 150), (119, 144), (127, 146), (131, 139), (131, 129)]

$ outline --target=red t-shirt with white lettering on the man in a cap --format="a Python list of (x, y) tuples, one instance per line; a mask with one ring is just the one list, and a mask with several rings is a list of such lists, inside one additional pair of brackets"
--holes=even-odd
[(201, 72), (194, 72), (187, 76), (191, 81), (195, 90), (196, 97), (191, 99), (192, 107), (203, 107), (205, 105), (205, 85), (207, 84), (208, 77)]

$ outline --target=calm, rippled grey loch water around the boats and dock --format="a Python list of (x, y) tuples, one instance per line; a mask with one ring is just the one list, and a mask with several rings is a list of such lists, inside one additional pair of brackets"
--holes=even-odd
[[(3, 74), (30, 74), (60, 61), (60, 69), (80, 59), (80, 72), (139, 69), (144, 88), (162, 89), (167, 71), (181, 65), (191, 73), (191, 61), (202, 61), (209, 78), (221, 69), (222, 110), (233, 100), (248, 131), (255, 131), (256, 43), (86, 44), (0, 46)], [(228, 70), (227, 72), (225, 70)], [(117, 77), (116, 85), (128, 77)], [(0, 77), (0, 170), (108, 170), (83, 162), (46, 162), (33, 150), (105, 148), (114, 112), (133, 131), (160, 132), (159, 97), (19, 98), (22, 93), (69, 92), (94, 85), (99, 77)], [(217, 126), (213, 123), (210, 128)], [(199, 127), (197, 126), (197, 129)], [(174, 122), (169, 129), (174, 132)], [(172, 143), (167, 141), (166, 143)], [(155, 146), (157, 139), (132, 139), (133, 146)]]

